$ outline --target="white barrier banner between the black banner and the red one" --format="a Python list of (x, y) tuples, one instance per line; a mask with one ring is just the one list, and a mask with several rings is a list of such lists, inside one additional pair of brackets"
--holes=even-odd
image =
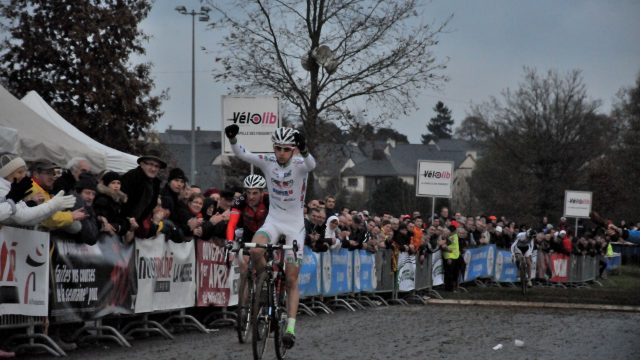
[(164, 234), (136, 239), (136, 313), (183, 309), (196, 303), (194, 241), (165, 241)]

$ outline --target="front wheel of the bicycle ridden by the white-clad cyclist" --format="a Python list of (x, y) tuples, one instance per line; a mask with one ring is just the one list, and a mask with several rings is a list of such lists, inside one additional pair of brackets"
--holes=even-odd
[(269, 281), (266, 272), (260, 274), (255, 284), (253, 315), (251, 320), (251, 347), (254, 360), (262, 359), (269, 340), (271, 316), (269, 314)]

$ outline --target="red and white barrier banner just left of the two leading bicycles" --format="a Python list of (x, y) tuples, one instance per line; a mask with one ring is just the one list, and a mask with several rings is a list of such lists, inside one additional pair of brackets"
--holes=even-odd
[(238, 304), (240, 269), (235, 253), (212, 241), (197, 240), (197, 306), (232, 306)]

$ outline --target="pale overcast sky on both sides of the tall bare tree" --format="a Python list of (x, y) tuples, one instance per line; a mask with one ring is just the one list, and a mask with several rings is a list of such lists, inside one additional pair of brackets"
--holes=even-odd
[[(191, 128), (191, 17), (177, 13), (177, 5), (199, 9), (200, 2), (158, 0), (142, 23), (151, 36), (144, 61), (154, 64), (157, 88), (170, 89), (159, 131)], [(517, 88), (523, 66), (562, 74), (582, 70), (589, 96), (603, 101), (602, 112), (640, 73), (640, 0), (433, 0), (424, 9), (428, 22), (453, 14), (435, 48), (439, 58), (450, 59), (451, 80), (440, 92), (422, 93), (416, 101), (422, 107), (393, 123), (411, 143), (427, 132), (438, 100), (452, 110), (457, 126), (471, 103)], [(211, 75), (218, 40), (215, 30), (196, 22), (196, 126), (206, 130), (220, 130), (220, 96), (226, 94)]]

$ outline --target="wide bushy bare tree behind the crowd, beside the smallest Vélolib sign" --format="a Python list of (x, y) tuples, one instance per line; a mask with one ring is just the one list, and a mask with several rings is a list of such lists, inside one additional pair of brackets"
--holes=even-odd
[(580, 71), (543, 76), (525, 68), (524, 81), (504, 91), (503, 102), (476, 106), (473, 115), (488, 137), (471, 185), (485, 210), (559, 215), (564, 190), (587, 175), (585, 166), (614, 138), (612, 119), (597, 113), (599, 105), (587, 96)]

